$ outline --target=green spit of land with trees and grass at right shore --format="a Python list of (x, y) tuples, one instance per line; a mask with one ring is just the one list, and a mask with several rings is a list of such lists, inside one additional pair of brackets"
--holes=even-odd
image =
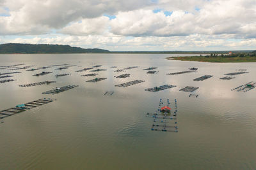
[(182, 60), (182, 61), (199, 61), (199, 62), (256, 62), (256, 51), (246, 53), (232, 53), (232, 55), (221, 54), (205, 56), (189, 56), (189, 57), (168, 57), (166, 59)]

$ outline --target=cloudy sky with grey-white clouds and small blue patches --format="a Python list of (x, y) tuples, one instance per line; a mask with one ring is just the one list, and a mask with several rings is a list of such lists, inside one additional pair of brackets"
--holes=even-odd
[(256, 50), (256, 0), (0, 0), (0, 43)]

